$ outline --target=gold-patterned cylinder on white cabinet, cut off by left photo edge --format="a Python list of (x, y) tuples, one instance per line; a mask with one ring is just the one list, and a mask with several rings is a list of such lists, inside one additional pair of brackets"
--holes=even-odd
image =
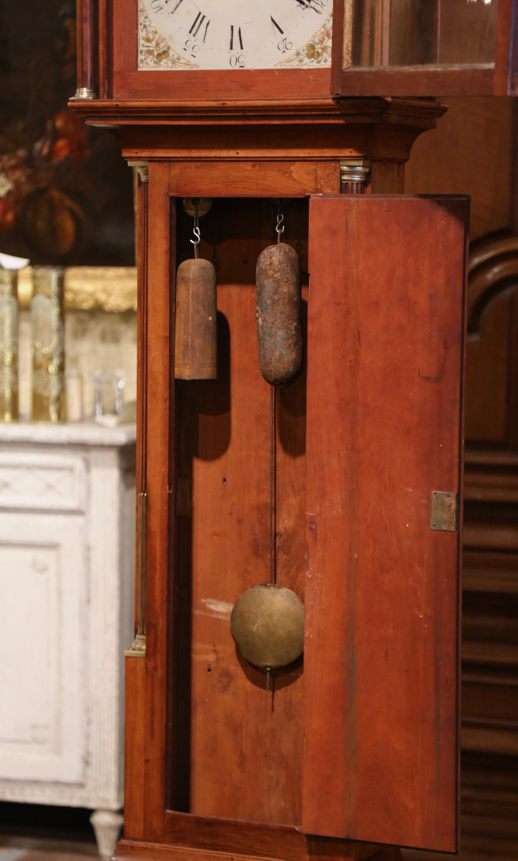
[(18, 418), (18, 273), (0, 269), (0, 421)]

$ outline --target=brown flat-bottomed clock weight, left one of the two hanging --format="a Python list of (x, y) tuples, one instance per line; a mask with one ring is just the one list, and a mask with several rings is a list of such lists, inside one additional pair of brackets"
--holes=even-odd
[(176, 274), (174, 376), (214, 380), (216, 375), (216, 270), (201, 257), (184, 260)]

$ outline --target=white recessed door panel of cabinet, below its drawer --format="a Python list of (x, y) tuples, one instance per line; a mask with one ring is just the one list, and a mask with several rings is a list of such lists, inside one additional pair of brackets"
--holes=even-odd
[(0, 778), (80, 784), (86, 570), (81, 515), (0, 521)]

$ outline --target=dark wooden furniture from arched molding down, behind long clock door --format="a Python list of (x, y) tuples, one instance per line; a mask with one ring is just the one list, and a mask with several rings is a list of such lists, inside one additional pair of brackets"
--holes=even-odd
[(514, 827), (518, 810), (518, 239), (500, 233), (473, 244), (469, 272), (464, 808), (468, 833), (477, 834), (479, 840), (503, 841), (502, 851), (509, 846), (512, 854), (518, 842)]

